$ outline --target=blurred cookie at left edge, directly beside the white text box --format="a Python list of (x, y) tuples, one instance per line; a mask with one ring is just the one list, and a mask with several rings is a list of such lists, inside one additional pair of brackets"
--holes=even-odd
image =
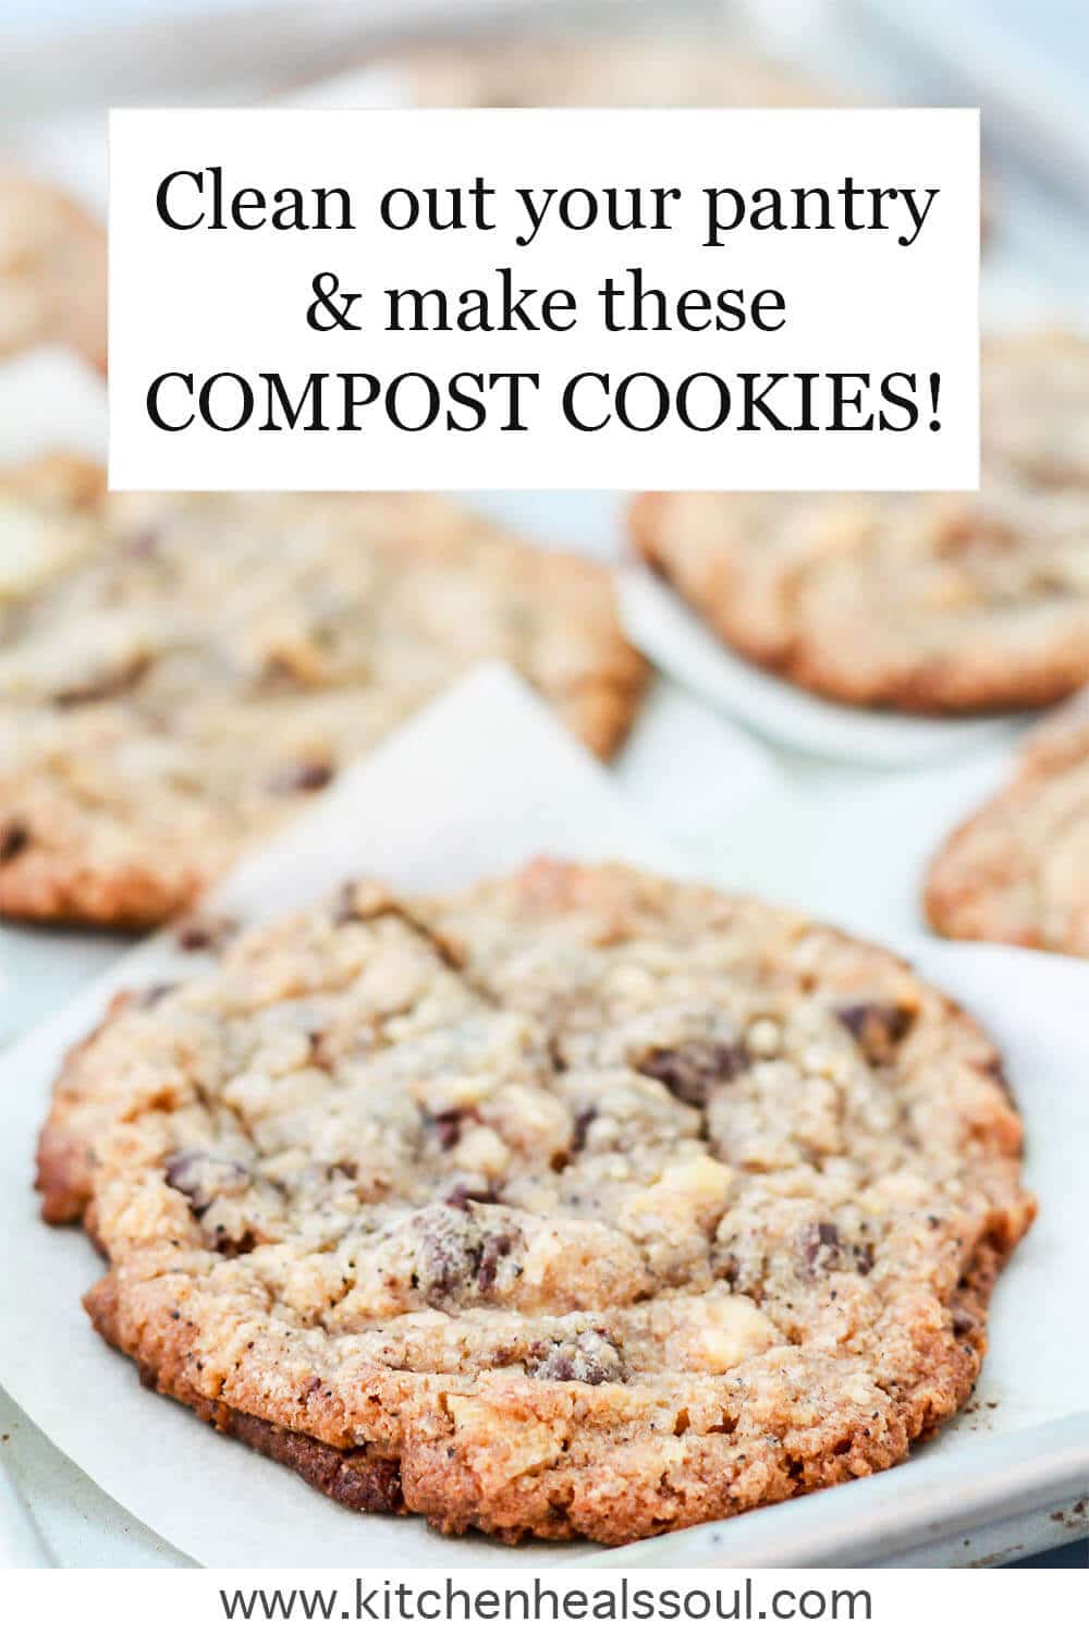
[(69, 346), (106, 368), (106, 234), (67, 194), (0, 168), (0, 358)]

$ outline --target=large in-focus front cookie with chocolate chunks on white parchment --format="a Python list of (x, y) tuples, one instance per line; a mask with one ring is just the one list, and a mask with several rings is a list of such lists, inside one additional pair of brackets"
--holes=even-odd
[(887, 1469), (1033, 1214), (994, 1047), (784, 910), (539, 861), (121, 997), (39, 1147), (145, 1382), (361, 1510), (616, 1544)]

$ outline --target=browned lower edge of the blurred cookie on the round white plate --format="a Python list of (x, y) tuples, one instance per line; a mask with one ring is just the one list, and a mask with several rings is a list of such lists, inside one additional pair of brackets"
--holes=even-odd
[[(728, 498), (730, 495), (727, 495)], [(640, 493), (629, 508), (629, 538), (637, 557), (663, 578), (709, 629), (738, 657), (807, 693), (862, 709), (885, 709), (931, 719), (1009, 714), (1045, 709), (1076, 693), (1089, 680), (1089, 650), (1040, 655), (1019, 668), (983, 665), (968, 672), (957, 660), (919, 660), (880, 685), (856, 686), (820, 650), (820, 644), (793, 634), (782, 644), (756, 641), (733, 616), (728, 593), (692, 595), (678, 578), (668, 534), (669, 493)], [(715, 549), (713, 541), (707, 544)], [(723, 580), (728, 577), (725, 572)]]

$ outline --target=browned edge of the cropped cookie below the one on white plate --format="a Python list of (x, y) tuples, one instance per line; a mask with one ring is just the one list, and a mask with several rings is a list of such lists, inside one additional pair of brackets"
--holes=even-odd
[[(1074, 717), (1069, 722), (1043, 725), (1029, 737), (1012, 778), (970, 817), (957, 824), (932, 855), (921, 892), (922, 912), (932, 930), (952, 941), (998, 941), (1071, 958), (1089, 956), (1089, 948), (1066, 943), (1056, 946), (1042, 930), (1029, 925), (1024, 935), (1002, 935), (1001, 926), (994, 923), (996, 915), (989, 912), (993, 894), (1002, 882), (981, 877), (970, 859), (976, 835), (985, 835), (994, 822), (1006, 817), (1016, 820), (1017, 809), (1032, 801), (1040, 784), (1047, 784), (1051, 776), (1079, 760), (1089, 760), (1089, 719)], [(1027, 866), (1017, 877), (1030, 877), (1033, 858), (1022, 853), (1019, 859)]]

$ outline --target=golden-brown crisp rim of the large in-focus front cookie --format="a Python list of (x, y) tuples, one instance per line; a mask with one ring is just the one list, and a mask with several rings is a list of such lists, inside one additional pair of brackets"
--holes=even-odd
[[(544, 895), (552, 904), (563, 905), (585, 900), (586, 889), (594, 889), (598, 873), (598, 869), (565, 868), (544, 861), (531, 864), (516, 877), (519, 891), (527, 900)], [(718, 894), (715, 892), (715, 895)], [(852, 948), (864, 951), (872, 946), (857, 938), (846, 940)], [(880, 951), (885, 961), (909, 969), (905, 961), (885, 949), (873, 951)], [(931, 989), (931, 992), (936, 990)], [(1022, 1129), (1002, 1078), (999, 1054), (986, 1033), (953, 1000), (940, 993), (940, 1003), (944, 1015), (965, 1028), (965, 1062), (1002, 1093), (1004, 1109), (1001, 1109), (1002, 1103), (994, 1103), (993, 1129), (1002, 1155), (1016, 1163), (1020, 1155)], [(64, 1149), (57, 1149), (51, 1159), (52, 1167), (51, 1162), (46, 1162), (39, 1176), (39, 1185), (47, 1193), (46, 1217), (77, 1219), (87, 1204), (90, 1190), (87, 1167), (82, 1170), (83, 1180), (80, 1180), (78, 1170), (80, 1162), (87, 1163), (87, 1155), (65, 1154)], [(77, 1167), (72, 1167), (73, 1163)], [(82, 1196), (80, 1186), (83, 1188)], [(57, 1191), (57, 1188), (60, 1190)], [(880, 1431), (873, 1431), (869, 1413), (865, 1413), (859, 1417), (857, 1436), (842, 1436), (834, 1444), (811, 1449), (800, 1458), (797, 1444), (792, 1449), (784, 1435), (759, 1477), (756, 1493), (748, 1485), (743, 1492), (731, 1495), (730, 1489), (740, 1485), (740, 1477), (736, 1469), (733, 1476), (727, 1477), (722, 1464), (715, 1464), (715, 1456), (722, 1448), (715, 1431), (692, 1436), (686, 1454), (689, 1459), (687, 1472), (694, 1479), (686, 1480), (681, 1487), (669, 1487), (663, 1493), (658, 1489), (656, 1471), (651, 1472), (651, 1474), (643, 1479), (638, 1467), (632, 1471), (630, 1466), (620, 1472), (611, 1471), (607, 1464), (575, 1466), (557, 1472), (562, 1476), (563, 1490), (568, 1495), (562, 1505), (550, 1502), (545, 1493), (547, 1471), (537, 1482), (532, 1482), (531, 1477), (531, 1485), (521, 1487), (518, 1492), (506, 1489), (482, 1492), (464, 1458), (449, 1461), (449, 1438), (413, 1441), (397, 1449), (384, 1444), (380, 1456), (387, 1464), (398, 1462), (400, 1466), (400, 1500), (405, 1511), (420, 1513), (447, 1533), (480, 1528), (508, 1542), (527, 1536), (552, 1539), (588, 1536), (602, 1544), (620, 1544), (707, 1520), (725, 1520), (746, 1508), (762, 1507), (807, 1490), (887, 1469), (901, 1461), (916, 1440), (932, 1435), (947, 1418), (953, 1417), (967, 1400), (986, 1351), (986, 1309), (991, 1289), (1001, 1266), (1030, 1227), (1033, 1216), (1035, 1199), (1024, 1190), (1020, 1173), (1011, 1172), (1009, 1185), (1002, 1186), (989, 1209), (980, 1209), (978, 1234), (968, 1250), (958, 1286), (950, 1289), (944, 1301), (950, 1319), (949, 1328), (922, 1335), (919, 1366), (903, 1395), (891, 1399), (893, 1410)], [(93, 1204), (85, 1227), (93, 1239)], [(243, 1410), (242, 1404), (232, 1405), (206, 1399), (201, 1395), (196, 1376), (188, 1368), (191, 1340), (186, 1338), (186, 1324), (176, 1320), (176, 1310), (170, 1312), (175, 1320), (158, 1320), (153, 1314), (149, 1319), (147, 1312), (140, 1317), (136, 1309), (124, 1317), (124, 1281), (122, 1268), (111, 1270), (91, 1289), (87, 1304), (100, 1332), (137, 1363), (145, 1382), (153, 1382), (162, 1394), (176, 1397), (198, 1410), (202, 1418), (216, 1423), (217, 1428), (247, 1440), (248, 1444), (278, 1458), (304, 1479), (318, 1485), (320, 1490), (328, 1492), (323, 1472), (338, 1469), (344, 1449), (349, 1449), (349, 1431), (344, 1428), (343, 1410), (325, 1410), (317, 1402), (313, 1407), (304, 1405), (299, 1410), (292, 1407), (287, 1415), (292, 1422), (269, 1425), (260, 1415)], [(392, 1382), (387, 1379), (385, 1384), (384, 1389), (376, 1374), (376, 1402), (390, 1392), (395, 1397), (397, 1391), (403, 1389), (397, 1377)], [(519, 1417), (547, 1425), (557, 1409), (567, 1409), (568, 1418), (576, 1413), (578, 1400), (585, 1399), (586, 1389), (589, 1387), (581, 1384), (550, 1384), (544, 1389), (537, 1386), (532, 1400), (521, 1395), (513, 1405)], [(255, 1402), (260, 1394), (255, 1395)], [(372, 1394), (371, 1382), (367, 1382), (366, 1394), (367, 1399)], [(397, 1397), (393, 1405), (405, 1404)], [(504, 1405), (509, 1404), (500, 1397), (500, 1409)], [(376, 1407), (376, 1413), (380, 1410), (382, 1407)], [(390, 1402), (385, 1402), (385, 1410), (390, 1410)], [(397, 1413), (393, 1413), (395, 1417)], [(366, 1430), (366, 1426), (362, 1428)], [(651, 1431), (647, 1435), (650, 1438)], [(302, 1440), (296, 1440), (299, 1436)], [(340, 1446), (336, 1446), (338, 1440)], [(629, 1441), (629, 1448), (630, 1444)], [(330, 1458), (340, 1462), (330, 1464), (325, 1451), (318, 1458), (313, 1451), (315, 1446), (328, 1451)], [(594, 1479), (599, 1474), (607, 1476), (604, 1484)], [(385, 1471), (382, 1487), (385, 1493), (393, 1490), (392, 1482), (392, 1472)], [(336, 1497), (338, 1493), (330, 1492), (330, 1495)], [(340, 1502), (344, 1498), (341, 1497)], [(351, 1507), (364, 1505), (353, 1503)]]

